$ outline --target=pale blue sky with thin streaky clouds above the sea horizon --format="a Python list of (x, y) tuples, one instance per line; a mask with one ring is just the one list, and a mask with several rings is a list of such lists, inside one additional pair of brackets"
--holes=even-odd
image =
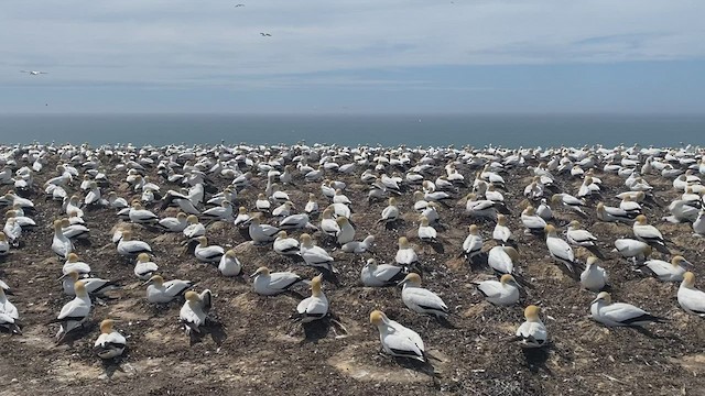
[(702, 0), (8, 0), (0, 112), (703, 114), (703, 15)]

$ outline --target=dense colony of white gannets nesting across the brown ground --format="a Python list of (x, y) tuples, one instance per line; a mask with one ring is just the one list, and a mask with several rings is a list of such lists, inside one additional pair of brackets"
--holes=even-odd
[[(626, 386), (620, 349), (703, 343), (694, 147), (0, 148), (6, 358), (124, 365), (161, 340), (208, 360), (239, 340), (463, 392), (575, 362)], [(567, 392), (535, 381), (518, 383)]]

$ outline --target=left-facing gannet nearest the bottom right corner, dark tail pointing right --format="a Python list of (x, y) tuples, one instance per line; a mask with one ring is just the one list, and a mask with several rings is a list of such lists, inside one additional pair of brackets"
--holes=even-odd
[(612, 302), (611, 296), (607, 292), (600, 292), (590, 302), (593, 319), (607, 326), (644, 326), (650, 322), (662, 323), (663, 318), (655, 317), (641, 308), (630, 304)]

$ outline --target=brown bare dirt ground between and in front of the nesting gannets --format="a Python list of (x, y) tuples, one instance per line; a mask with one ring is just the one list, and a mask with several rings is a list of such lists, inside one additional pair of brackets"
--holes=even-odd
[[(106, 168), (115, 166), (115, 158), (102, 158)], [(108, 165), (109, 164), (109, 165)], [(55, 162), (35, 177), (41, 186), (53, 174)], [(535, 165), (535, 164), (533, 164)], [(460, 168), (468, 182), (474, 173)], [(359, 170), (361, 172), (361, 169)], [(358, 172), (358, 175), (359, 175)], [(110, 170), (112, 189), (130, 198), (123, 173)], [(622, 191), (617, 176), (601, 175), (604, 197), (609, 205)], [(154, 180), (155, 172), (151, 172)], [(530, 182), (529, 170), (512, 169), (507, 180), (507, 201), (513, 216), (510, 228), (519, 241), (519, 268), (531, 279), (521, 306), (500, 308), (485, 302), (471, 282), (488, 277), (490, 271), (470, 267), (458, 256), (467, 226), (462, 205), (442, 208), (441, 216), (448, 229), (440, 233), (444, 253), (415, 238), (420, 257), (431, 272), (424, 274), (425, 287), (440, 294), (456, 316), (456, 329), (445, 328), (435, 320), (406, 309), (399, 288), (365, 288), (359, 285), (359, 271), (366, 258), (392, 262), (397, 239), (401, 234), (414, 237), (417, 228), (411, 194), (405, 194), (400, 209), (404, 221), (397, 230), (384, 230), (375, 222), (386, 202), (367, 204), (367, 186), (358, 176), (341, 177), (348, 184), (345, 191), (355, 202), (352, 220), (357, 240), (372, 233), (377, 237), (375, 252), (365, 256), (334, 251), (340, 271), (341, 286), (324, 285), (324, 293), (334, 311), (347, 328), (346, 338), (325, 327), (304, 337), (301, 328), (289, 320), (297, 300), (290, 296), (260, 297), (251, 292), (250, 280), (219, 276), (213, 265), (198, 263), (186, 252), (183, 235), (161, 235), (134, 226), (137, 238), (151, 243), (155, 262), (164, 278), (198, 282), (198, 290), (214, 292), (212, 315), (220, 327), (199, 342), (189, 342), (178, 327), (181, 301), (169, 306), (151, 306), (144, 298), (144, 286), (134, 277), (132, 263), (117, 254), (110, 242), (110, 230), (118, 222), (113, 210), (87, 209), (85, 220), (90, 228), (90, 244), (78, 244), (80, 258), (90, 264), (94, 275), (123, 285), (111, 294), (107, 306), (96, 306), (86, 330), (72, 343), (54, 344), (56, 324), (46, 324), (70, 298), (62, 293), (63, 265), (51, 251), (52, 221), (62, 215), (61, 205), (45, 201), (37, 188), (30, 197), (37, 210), (36, 230), (23, 233), (23, 246), (14, 250), (0, 264), (0, 278), (15, 295), (10, 296), (24, 324), (23, 336), (0, 334), (0, 395), (72, 395), (99, 393), (102, 395), (427, 395), (452, 393), (459, 395), (698, 395), (705, 394), (705, 327), (702, 319), (683, 312), (675, 300), (677, 284), (664, 284), (634, 272), (631, 264), (608, 253), (603, 263), (610, 274), (612, 297), (628, 301), (666, 317), (666, 324), (654, 324), (648, 332), (633, 329), (607, 329), (592, 321), (589, 301), (594, 295), (582, 290), (551, 261), (542, 239), (521, 232), (519, 213), (523, 187)], [(221, 189), (228, 180), (214, 177)], [(670, 180), (647, 176), (657, 187), (657, 196), (670, 201), (676, 196)], [(177, 186), (159, 182), (162, 191)], [(303, 208), (307, 194), (321, 196), (319, 184), (304, 184), (296, 178), (296, 187), (285, 188), (297, 207)], [(560, 185), (575, 194), (579, 180), (560, 177)], [(265, 180), (257, 178), (254, 186), (240, 194), (248, 208)], [(74, 188), (77, 188), (77, 183)], [(0, 193), (6, 193), (2, 187)], [(463, 197), (469, 188), (460, 189)], [(104, 190), (105, 194), (105, 190)], [(323, 198), (321, 204), (324, 204)], [(593, 207), (594, 207), (593, 202)], [(164, 216), (158, 207), (152, 208)], [(555, 210), (558, 223), (574, 215)], [(699, 268), (705, 242), (691, 237), (688, 224), (665, 224), (658, 220), (666, 216), (665, 208), (647, 208), (664, 237), (673, 240), (674, 252), (683, 254)], [(604, 252), (612, 249), (617, 238), (630, 237), (629, 226), (596, 222), (594, 209), (583, 224), (599, 239)], [(577, 218), (576, 218), (577, 219)], [(271, 221), (272, 223), (273, 220)], [(486, 241), (491, 239), (492, 224), (481, 223)], [(231, 223), (210, 226), (210, 243), (238, 246), (246, 240)], [(294, 233), (299, 235), (299, 233)], [(317, 235), (316, 235), (317, 237)], [(321, 238), (317, 240), (321, 242)], [(487, 242), (487, 246), (491, 242)], [(328, 246), (327, 249), (332, 249)], [(308, 277), (311, 268), (278, 256), (271, 246), (240, 245), (239, 258), (245, 272), (251, 274), (267, 265), (275, 271), (292, 270)], [(670, 260), (666, 257), (665, 260)], [(705, 287), (699, 282), (701, 287)], [(304, 295), (310, 292), (300, 289)], [(545, 352), (524, 354), (513, 343), (502, 341), (513, 334), (522, 322), (523, 307), (539, 304), (543, 309), (552, 346)], [(414, 330), (424, 339), (427, 350), (441, 359), (434, 362), (441, 374), (437, 385), (419, 367), (409, 362), (381, 355), (377, 329), (369, 324), (369, 312), (382, 309), (388, 316)], [(119, 318), (116, 328), (128, 338), (128, 350), (117, 364), (105, 364), (91, 351), (99, 334), (97, 323), (104, 318)]]

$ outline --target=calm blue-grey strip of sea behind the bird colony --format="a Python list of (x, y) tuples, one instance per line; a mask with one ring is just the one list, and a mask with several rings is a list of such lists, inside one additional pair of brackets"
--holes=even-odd
[(0, 114), (1, 143), (705, 145), (705, 116)]

